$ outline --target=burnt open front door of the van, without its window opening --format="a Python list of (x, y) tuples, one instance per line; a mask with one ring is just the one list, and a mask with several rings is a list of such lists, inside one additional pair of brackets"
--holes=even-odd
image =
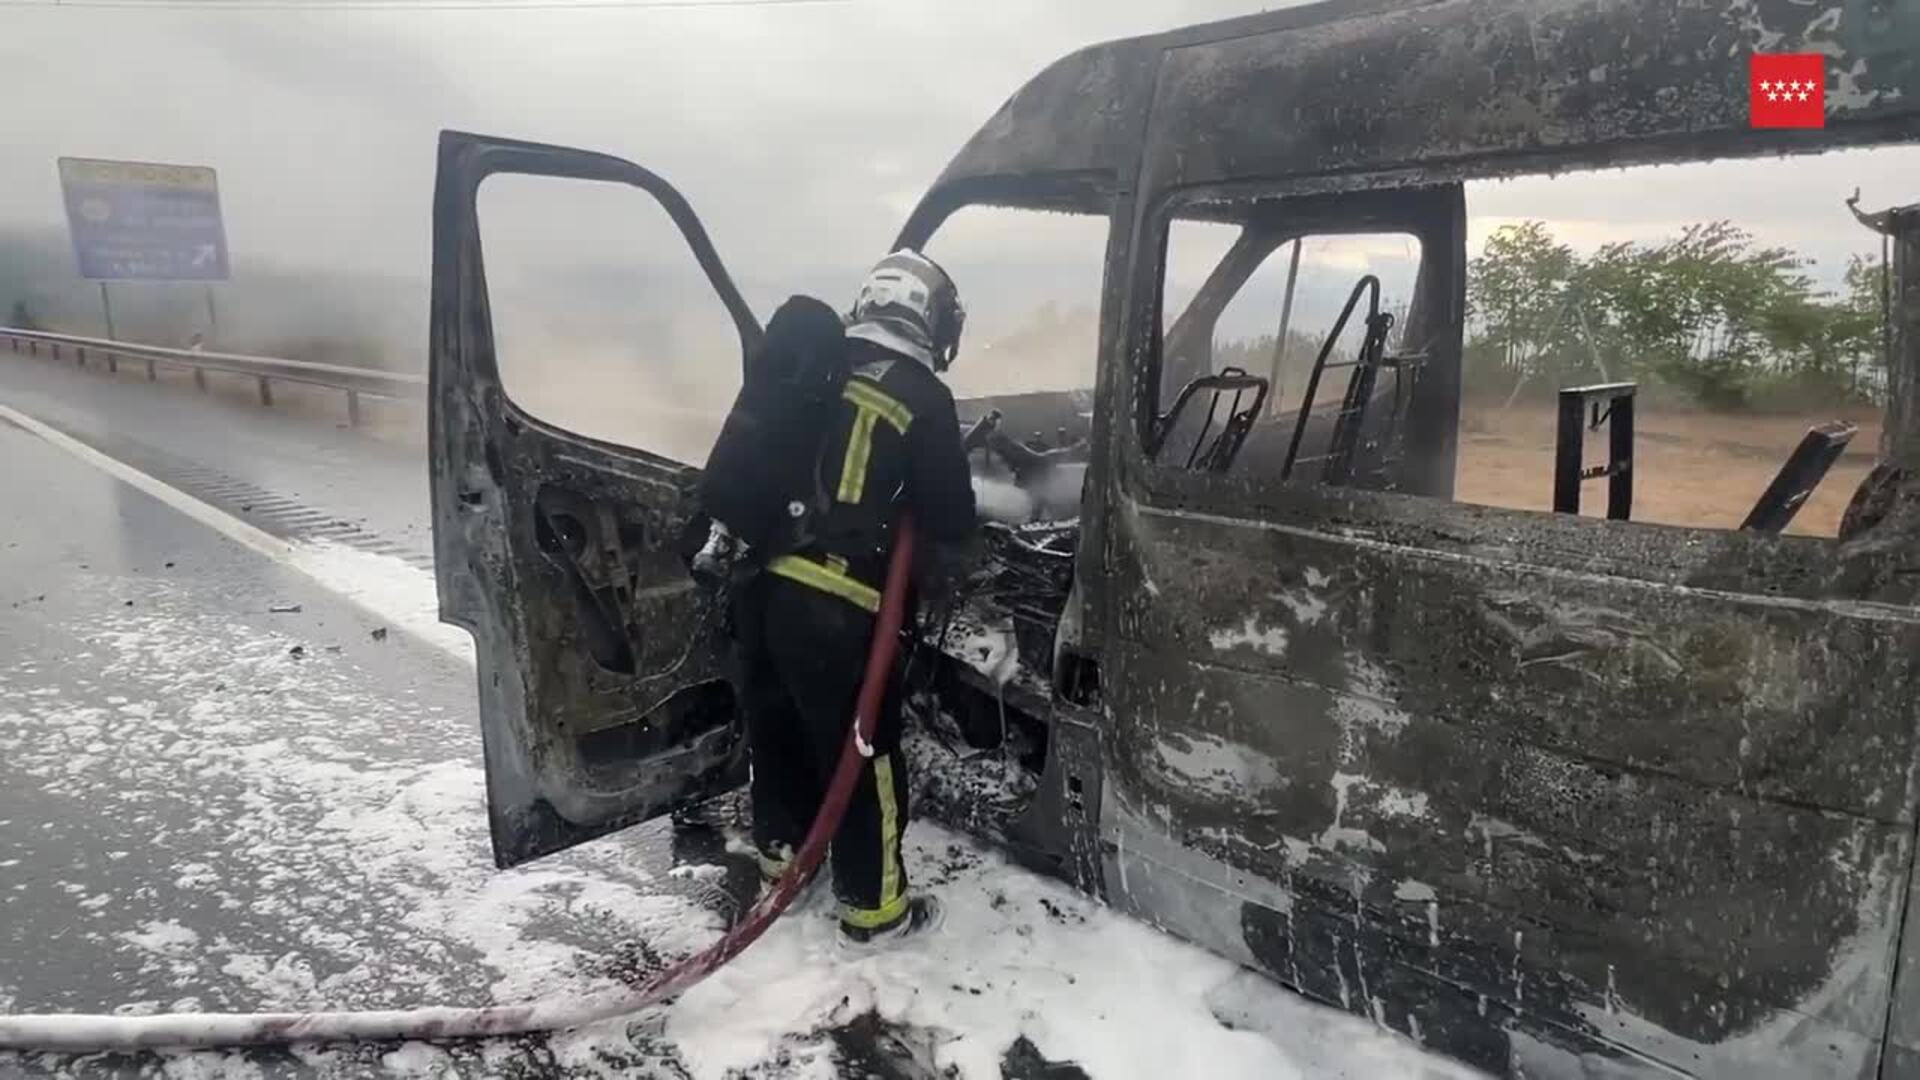
[(732, 786), (745, 742), (720, 598), (685, 569), (705, 538), (699, 469), (541, 423), (501, 386), (476, 198), (501, 173), (651, 196), (739, 331), (741, 356), (716, 365), (739, 371), (760, 325), (660, 177), (605, 154), (442, 133), (434, 561), (440, 617), (474, 636), (493, 861), (511, 867)]

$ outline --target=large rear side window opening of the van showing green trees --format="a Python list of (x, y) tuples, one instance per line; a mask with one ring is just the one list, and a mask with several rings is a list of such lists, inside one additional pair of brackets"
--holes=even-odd
[[(1836, 536), (1874, 465), (1885, 404), (1878, 236), (1843, 198), (1891, 202), (1912, 150), (1715, 161), (1467, 188), (1475, 223), (1457, 498), (1609, 513), (1620, 482), (1605, 404), (1632, 382), (1632, 519)], [(1663, 192), (1665, 221), (1596, 229), (1569, 208), (1605, 188)], [(1766, 190), (1793, 213), (1736, 215)], [(1596, 404), (1601, 423), (1596, 427)], [(1563, 446), (1576, 427), (1580, 446)], [(1542, 477), (1563, 477), (1544, 482)]]

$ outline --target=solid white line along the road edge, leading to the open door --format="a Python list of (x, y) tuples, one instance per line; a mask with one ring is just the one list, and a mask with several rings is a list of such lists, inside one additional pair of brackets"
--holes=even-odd
[[(102, 454), (19, 409), (0, 404), (0, 421), (12, 423), (42, 442), (65, 450), (94, 469), (154, 496), (228, 540), (259, 552), (282, 567), (300, 571), (321, 584), (321, 588), (342, 596), (380, 621), (411, 632), (428, 646), (463, 663), (472, 663), (472, 638), (457, 626), (440, 623), (434, 615), (436, 598), (430, 573), (411, 567), (403, 559), (359, 552), (344, 544), (290, 544), (257, 525), (175, 488), (152, 473), (142, 473), (119, 457)], [(396, 580), (401, 571), (405, 571), (405, 577)]]

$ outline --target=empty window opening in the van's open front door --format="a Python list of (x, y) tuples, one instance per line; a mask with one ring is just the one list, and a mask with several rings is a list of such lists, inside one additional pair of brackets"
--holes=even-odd
[(507, 398), (703, 465), (739, 390), (739, 332), (660, 204), (626, 184), (493, 175), (478, 219)]

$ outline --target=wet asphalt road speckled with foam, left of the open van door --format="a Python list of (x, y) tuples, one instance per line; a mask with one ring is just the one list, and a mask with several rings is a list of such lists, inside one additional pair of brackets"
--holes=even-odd
[[(119, 390), (88, 386), (102, 388)], [(282, 419), (292, 436), (261, 452), (252, 425), (192, 423), (205, 407), (127, 404), (142, 429), (119, 425), (113, 394), (98, 411), (21, 398), (0, 400), (92, 438), (113, 429), (102, 442), (144, 463), (211, 444), (263, 480), (290, 455), (346, 461), (323, 457), (338, 446), (315, 425)], [(146, 442), (159, 438), (173, 442)], [(386, 454), (346, 438), (361, 442), (355, 469)], [(718, 834), (662, 826), (493, 871), (467, 663), (8, 423), (0, 459), (0, 1009), (378, 1009), (605, 988), (647, 967), (637, 942), (710, 934), (751, 888)], [(301, 479), (326, 490), (326, 465)], [(392, 494), (338, 490), (359, 502), (326, 521)], [(426, 1049), (200, 1057), (363, 1074), (396, 1053)], [(488, 1074), (674, 1070), (618, 1024), (559, 1055), (545, 1040), (432, 1053)], [(0, 1074), (169, 1063), (182, 1065), (0, 1057)]]

